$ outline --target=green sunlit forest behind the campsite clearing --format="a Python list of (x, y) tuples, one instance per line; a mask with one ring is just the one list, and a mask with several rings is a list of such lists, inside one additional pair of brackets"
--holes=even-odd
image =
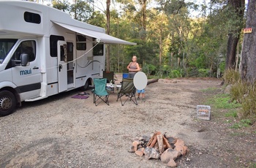
[[(245, 5), (241, 3), (238, 10), (243, 11), (242, 17), (225, 0), (64, 0), (51, 4), (76, 20), (106, 28), (106, 33), (114, 37), (137, 43), (107, 46), (109, 71), (125, 72), (132, 55), (136, 55), (147, 75), (221, 77), (230, 32), (238, 39), (235, 60), (241, 53), (241, 31), (245, 25)], [(238, 61), (235, 63), (237, 68)]]

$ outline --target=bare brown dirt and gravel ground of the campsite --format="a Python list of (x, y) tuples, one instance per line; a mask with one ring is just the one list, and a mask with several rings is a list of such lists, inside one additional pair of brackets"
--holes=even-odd
[[(120, 81), (120, 80), (118, 80)], [(117, 81), (117, 83), (118, 83)], [(167, 167), (129, 153), (136, 137), (162, 131), (184, 140), (187, 156), (178, 167), (253, 167), (255, 133), (234, 131), (214, 109), (211, 121), (196, 118), (196, 105), (221, 89), (220, 80), (173, 79), (146, 87), (146, 102), (136, 106), (116, 102), (93, 104), (72, 99), (69, 91), (38, 102), (24, 102), (12, 115), (0, 118), (0, 167)]]

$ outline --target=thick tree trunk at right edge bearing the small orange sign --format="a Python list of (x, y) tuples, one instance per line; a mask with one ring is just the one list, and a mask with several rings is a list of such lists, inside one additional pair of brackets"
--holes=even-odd
[(252, 33), (244, 34), (244, 45), (241, 53), (241, 78), (249, 83), (256, 81), (256, 0), (249, 0), (246, 28)]

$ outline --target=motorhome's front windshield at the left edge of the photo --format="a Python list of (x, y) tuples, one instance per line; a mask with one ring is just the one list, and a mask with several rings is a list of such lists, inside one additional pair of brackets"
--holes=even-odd
[(0, 39), (0, 64), (7, 57), (7, 54), (12, 49), (18, 39)]

